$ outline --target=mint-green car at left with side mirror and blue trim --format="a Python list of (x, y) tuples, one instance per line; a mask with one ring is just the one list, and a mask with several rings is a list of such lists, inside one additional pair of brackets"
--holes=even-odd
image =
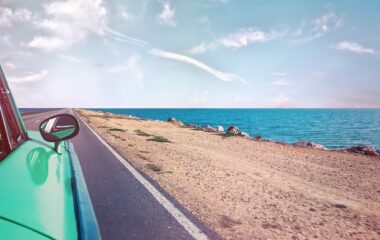
[(0, 67), (0, 239), (100, 239), (69, 114), (28, 131)]

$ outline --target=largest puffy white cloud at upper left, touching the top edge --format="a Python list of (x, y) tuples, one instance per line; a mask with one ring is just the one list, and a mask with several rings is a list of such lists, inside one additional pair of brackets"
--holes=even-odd
[(107, 10), (102, 0), (64, 0), (44, 5), (46, 18), (35, 21), (47, 35), (35, 36), (27, 46), (42, 50), (67, 49), (89, 34), (103, 35)]

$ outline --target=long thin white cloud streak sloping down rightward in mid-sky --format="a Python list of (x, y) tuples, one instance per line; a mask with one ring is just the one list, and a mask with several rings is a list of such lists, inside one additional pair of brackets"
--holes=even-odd
[(235, 74), (224, 73), (224, 72), (218, 71), (218, 70), (204, 64), (203, 62), (200, 62), (198, 60), (195, 60), (193, 58), (190, 58), (190, 57), (178, 54), (178, 53), (167, 52), (167, 51), (163, 51), (160, 49), (152, 49), (150, 51), (150, 53), (155, 55), (155, 56), (158, 56), (158, 57), (168, 58), (168, 59), (172, 59), (175, 61), (179, 61), (179, 62), (183, 62), (183, 63), (193, 65), (193, 66), (195, 66), (199, 69), (202, 69), (203, 71), (213, 75), (214, 77), (216, 77), (219, 80), (222, 80), (224, 82), (229, 82), (229, 81), (233, 81), (233, 80), (240, 80), (243, 83), (246, 83), (243, 79), (241, 79), (239, 76), (237, 76)]

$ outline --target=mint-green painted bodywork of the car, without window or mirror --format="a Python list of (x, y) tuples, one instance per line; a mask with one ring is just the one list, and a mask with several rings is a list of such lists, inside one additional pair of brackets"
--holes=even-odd
[(35, 231), (0, 219), (1, 238), (45, 239), (36, 235), (41, 232), (54, 239), (77, 239), (68, 151), (61, 145), (59, 155), (38, 132), (29, 136), (38, 141), (23, 143), (0, 163), (0, 217)]

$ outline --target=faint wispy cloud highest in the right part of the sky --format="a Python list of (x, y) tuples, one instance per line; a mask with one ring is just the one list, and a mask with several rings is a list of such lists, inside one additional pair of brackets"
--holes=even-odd
[(336, 31), (343, 25), (343, 18), (338, 17), (334, 12), (329, 12), (314, 19), (310, 23), (302, 22), (294, 32), (294, 43), (309, 42), (320, 38), (328, 32)]

